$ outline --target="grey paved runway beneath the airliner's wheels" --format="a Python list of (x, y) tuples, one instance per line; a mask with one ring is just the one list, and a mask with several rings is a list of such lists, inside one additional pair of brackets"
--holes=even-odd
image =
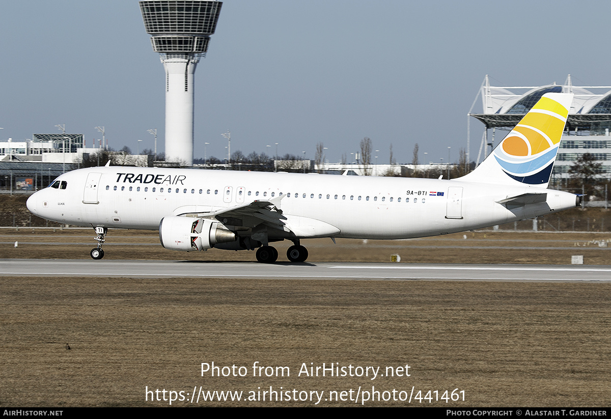
[(608, 282), (611, 266), (3, 259), (0, 275)]

